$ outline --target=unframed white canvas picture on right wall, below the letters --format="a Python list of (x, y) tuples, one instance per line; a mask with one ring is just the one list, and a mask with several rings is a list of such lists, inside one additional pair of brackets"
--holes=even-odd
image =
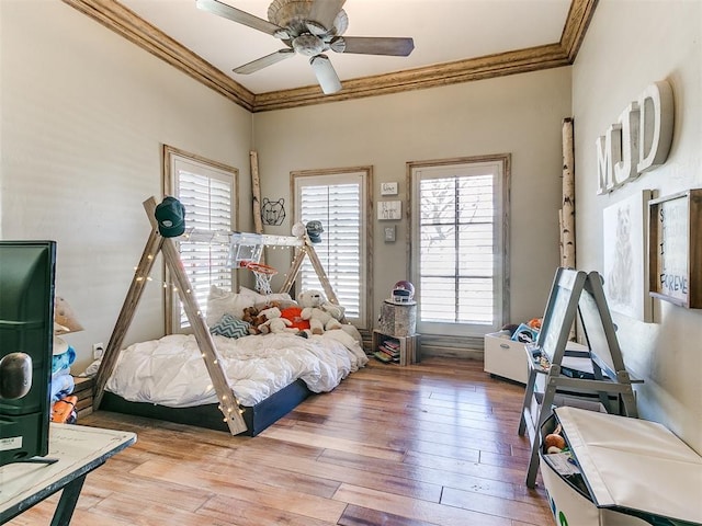
[(603, 288), (610, 309), (653, 321), (648, 279), (648, 202), (643, 190), (608, 206), (602, 215)]

